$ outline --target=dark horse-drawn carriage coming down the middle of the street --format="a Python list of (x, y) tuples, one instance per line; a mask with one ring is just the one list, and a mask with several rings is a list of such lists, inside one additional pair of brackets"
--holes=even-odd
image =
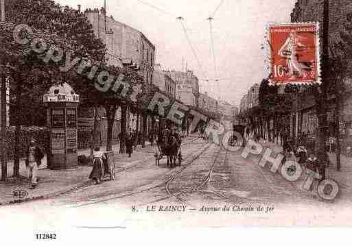
[(160, 160), (167, 158), (167, 166), (176, 167), (181, 165), (181, 137), (176, 132), (165, 130), (158, 136), (155, 149), (155, 164), (160, 165)]

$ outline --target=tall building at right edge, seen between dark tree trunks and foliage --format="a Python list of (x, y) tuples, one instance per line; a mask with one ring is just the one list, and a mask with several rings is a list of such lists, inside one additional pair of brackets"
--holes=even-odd
[[(323, 2), (319, 0), (298, 0), (291, 14), (292, 22), (319, 22), (320, 23), (320, 40), (322, 40), (322, 21), (323, 21)], [(352, 2), (349, 0), (329, 1), (329, 46), (340, 39), (340, 33), (350, 25), (352, 21)], [(320, 42), (320, 51), (322, 42)], [(331, 55), (331, 51), (330, 51)], [(348, 61), (347, 61), (348, 62)], [(350, 72), (352, 67), (350, 67)], [(327, 121), (329, 124), (329, 139), (333, 141), (334, 132), (338, 130), (341, 135), (342, 153), (351, 154), (352, 147), (352, 79), (346, 78), (344, 83), (344, 92), (340, 98), (340, 116), (339, 122), (336, 119), (336, 98), (334, 96), (328, 99), (329, 109), (327, 112)], [(315, 111), (315, 99), (309, 88), (301, 89), (299, 100), (291, 116), (292, 135), (299, 136), (301, 133), (310, 134), (315, 138), (317, 132), (318, 120)], [(335, 130), (334, 130), (335, 128)], [(336, 140), (336, 139), (335, 139)]]

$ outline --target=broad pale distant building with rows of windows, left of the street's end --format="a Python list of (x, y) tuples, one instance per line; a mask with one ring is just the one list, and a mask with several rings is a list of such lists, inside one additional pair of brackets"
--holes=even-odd
[(198, 106), (199, 82), (192, 71), (165, 71), (176, 82), (176, 98), (189, 106)]

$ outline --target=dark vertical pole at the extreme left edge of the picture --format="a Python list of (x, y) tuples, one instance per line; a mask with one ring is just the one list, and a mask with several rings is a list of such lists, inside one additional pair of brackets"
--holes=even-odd
[[(1, 22), (5, 22), (5, 0), (1, 0)], [(2, 64), (5, 66), (5, 64)], [(1, 180), (8, 178), (8, 161), (6, 158), (6, 75), (5, 71), (1, 71)]]

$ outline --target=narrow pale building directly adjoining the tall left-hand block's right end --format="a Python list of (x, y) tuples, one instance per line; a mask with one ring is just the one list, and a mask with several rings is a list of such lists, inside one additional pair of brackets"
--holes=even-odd
[(176, 98), (176, 82), (165, 71), (161, 71), (160, 64), (154, 66), (153, 84), (158, 86), (161, 91)]

